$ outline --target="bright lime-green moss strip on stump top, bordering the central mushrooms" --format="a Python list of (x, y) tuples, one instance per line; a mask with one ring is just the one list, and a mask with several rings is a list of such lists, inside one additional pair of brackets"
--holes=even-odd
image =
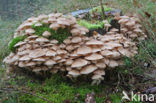
[(100, 21), (97, 21), (95, 24), (92, 24), (86, 20), (79, 20), (78, 24), (88, 28), (89, 30), (90, 29), (104, 28), (104, 23), (100, 22)]

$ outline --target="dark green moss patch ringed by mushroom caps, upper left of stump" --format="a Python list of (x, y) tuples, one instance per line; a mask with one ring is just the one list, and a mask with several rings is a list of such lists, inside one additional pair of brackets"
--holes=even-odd
[(42, 36), (43, 32), (48, 31), (51, 33), (51, 36), (49, 39), (56, 39), (59, 41), (59, 43), (63, 43), (63, 41), (68, 38), (68, 36), (71, 36), (70, 30), (68, 28), (62, 29), (59, 28), (57, 31), (50, 29), (49, 25), (43, 24), (42, 26), (35, 27), (34, 25), (32, 28), (35, 30), (35, 34), (38, 36)]

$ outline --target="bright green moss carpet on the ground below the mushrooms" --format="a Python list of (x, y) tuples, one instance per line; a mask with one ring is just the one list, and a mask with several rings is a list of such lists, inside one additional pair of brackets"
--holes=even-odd
[[(80, 96), (76, 100), (76, 103), (84, 103), (87, 93), (95, 92), (98, 95), (101, 91), (105, 92), (107, 86), (91, 86), (90, 83), (86, 82), (73, 83), (63, 79), (60, 74), (55, 74), (50, 79), (45, 80), (43, 84), (37, 80), (33, 82), (32, 80), (29, 80), (27, 85), (25, 85), (25, 88), (29, 88), (35, 95), (44, 97), (53, 103), (63, 103), (65, 100), (70, 100), (72, 103), (75, 103), (74, 98), (77, 94)], [(102, 103), (105, 96), (98, 97), (97, 95), (97, 103)], [(28, 94), (20, 94), (18, 100), (22, 103), (47, 103), (41, 98)]]

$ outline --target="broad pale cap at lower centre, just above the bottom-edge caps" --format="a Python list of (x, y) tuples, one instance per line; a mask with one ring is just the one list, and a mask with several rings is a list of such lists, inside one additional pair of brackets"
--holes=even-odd
[(79, 68), (79, 67), (83, 67), (85, 65), (88, 64), (88, 61), (85, 59), (76, 59), (73, 63), (72, 63), (72, 68)]

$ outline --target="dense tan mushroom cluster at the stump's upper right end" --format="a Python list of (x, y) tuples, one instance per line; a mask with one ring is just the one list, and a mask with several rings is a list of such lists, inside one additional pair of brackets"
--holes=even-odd
[[(144, 40), (147, 36), (141, 30), (140, 20), (136, 15), (131, 16), (118, 16), (115, 17), (121, 26), (120, 32), (127, 38)], [(116, 30), (113, 30), (116, 31)]]

